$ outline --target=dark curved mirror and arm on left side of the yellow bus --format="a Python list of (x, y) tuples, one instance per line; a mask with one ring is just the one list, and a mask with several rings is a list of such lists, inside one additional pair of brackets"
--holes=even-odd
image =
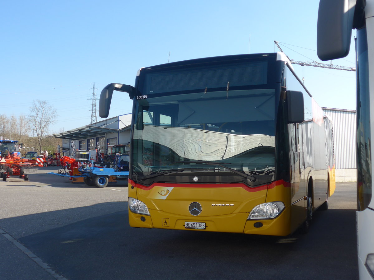
[(134, 99), (136, 89), (131, 85), (124, 85), (118, 83), (111, 83), (104, 87), (100, 94), (99, 100), (99, 116), (107, 118), (109, 115), (110, 103), (112, 100), (113, 91), (122, 91), (129, 94), (130, 99)]

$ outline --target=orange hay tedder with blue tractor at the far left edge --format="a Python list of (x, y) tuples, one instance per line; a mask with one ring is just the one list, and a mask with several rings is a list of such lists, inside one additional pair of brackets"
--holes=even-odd
[(0, 178), (3, 181), (12, 175), (19, 175), (27, 181), (28, 174), (43, 166), (42, 158), (21, 158), (21, 146), (16, 140), (0, 140)]

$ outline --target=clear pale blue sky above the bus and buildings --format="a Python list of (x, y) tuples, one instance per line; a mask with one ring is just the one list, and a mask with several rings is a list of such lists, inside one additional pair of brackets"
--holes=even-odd
[[(90, 123), (93, 83), (97, 98), (109, 83), (134, 85), (139, 68), (167, 63), (169, 52), (170, 62), (277, 52), (276, 40), (291, 59), (321, 62), (318, 1), (21, 0), (3, 1), (0, 13), (0, 114), (27, 115), (47, 100), (59, 115), (52, 133)], [(353, 36), (349, 56), (332, 63), (355, 66)], [(355, 110), (355, 72), (294, 69), (320, 106)], [(131, 106), (116, 91), (109, 117)]]

